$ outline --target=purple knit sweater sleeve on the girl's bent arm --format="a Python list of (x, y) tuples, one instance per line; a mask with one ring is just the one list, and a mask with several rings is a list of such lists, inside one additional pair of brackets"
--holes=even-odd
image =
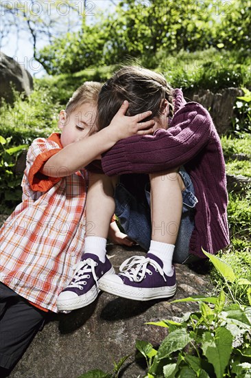
[(169, 129), (117, 142), (102, 155), (102, 168), (109, 176), (176, 168), (202, 150), (213, 127), (208, 111), (196, 102), (188, 102), (175, 113)]

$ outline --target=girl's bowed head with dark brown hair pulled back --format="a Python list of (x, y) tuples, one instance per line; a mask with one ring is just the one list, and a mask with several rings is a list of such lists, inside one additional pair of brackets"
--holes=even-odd
[[(110, 124), (124, 100), (127, 115), (152, 111), (159, 127), (167, 128), (167, 117), (173, 115), (173, 89), (164, 76), (149, 69), (127, 66), (119, 69), (101, 88), (97, 102), (98, 129)], [(144, 121), (146, 121), (145, 118)]]

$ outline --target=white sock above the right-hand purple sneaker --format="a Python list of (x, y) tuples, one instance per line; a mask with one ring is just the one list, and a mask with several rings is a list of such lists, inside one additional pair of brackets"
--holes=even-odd
[(163, 262), (163, 271), (167, 276), (171, 275), (172, 269), (171, 269), (171, 262), (173, 260), (173, 254), (174, 254), (174, 244), (167, 244), (167, 243), (161, 243), (160, 241), (153, 241), (151, 240), (149, 253), (154, 254), (154, 256), (157, 256), (160, 258), (160, 260)]

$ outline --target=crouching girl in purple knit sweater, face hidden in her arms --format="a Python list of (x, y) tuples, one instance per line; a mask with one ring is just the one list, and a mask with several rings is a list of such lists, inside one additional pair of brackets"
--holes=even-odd
[[(206, 109), (186, 103), (182, 91), (171, 89), (160, 74), (124, 67), (112, 76), (99, 93), (99, 129), (106, 128), (123, 100), (130, 104), (128, 115), (152, 110), (156, 131), (121, 140), (103, 155), (104, 173), (121, 175), (120, 182), (93, 173), (86, 215), (88, 221), (95, 221), (99, 238), (87, 235), (86, 242), (104, 259), (108, 212), (105, 222), (94, 203), (104, 199), (108, 210), (109, 195), (117, 184), (115, 212), (125, 232), (147, 255), (126, 260), (119, 275), (99, 280), (99, 289), (139, 300), (169, 297), (176, 289), (172, 261), (188, 263), (193, 256), (204, 257), (202, 247), (215, 254), (229, 243), (222, 147)], [(145, 174), (150, 177), (146, 185)], [(87, 282), (86, 276), (82, 281)], [(71, 285), (74, 282), (81, 282), (81, 272)], [(77, 295), (81, 298), (82, 293)]]

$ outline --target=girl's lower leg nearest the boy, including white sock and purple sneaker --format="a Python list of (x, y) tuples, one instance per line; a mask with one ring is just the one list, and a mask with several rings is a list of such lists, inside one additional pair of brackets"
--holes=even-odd
[(71, 282), (58, 296), (59, 311), (71, 311), (91, 304), (99, 293), (99, 278), (115, 273), (106, 257), (106, 238), (115, 211), (113, 192), (116, 181), (115, 177), (104, 174), (89, 175), (84, 253)]

